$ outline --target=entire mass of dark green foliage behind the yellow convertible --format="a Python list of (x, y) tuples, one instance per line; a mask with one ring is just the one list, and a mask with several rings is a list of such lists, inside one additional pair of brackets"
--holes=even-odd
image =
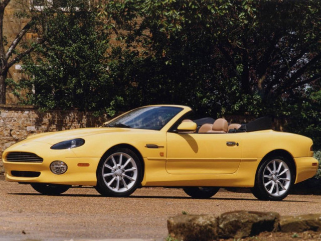
[(320, 13), (314, 0), (101, 0), (53, 15), (21, 85), (42, 108), (270, 115), (321, 147)]

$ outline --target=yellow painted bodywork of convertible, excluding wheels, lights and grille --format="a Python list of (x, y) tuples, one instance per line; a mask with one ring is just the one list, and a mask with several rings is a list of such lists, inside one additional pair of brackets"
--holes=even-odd
[[(140, 156), (144, 170), (142, 186), (253, 187), (260, 162), (277, 150), (288, 153), (294, 162), (295, 183), (313, 177), (317, 171), (317, 160), (312, 157), (312, 140), (309, 138), (271, 130), (225, 134), (175, 133), (171, 128), (181, 122), (191, 108), (157, 106), (179, 107), (181, 111), (161, 130), (102, 127), (30, 136), (4, 152), (6, 179), (24, 183), (95, 186), (100, 160), (108, 150), (119, 145), (131, 147)], [(72, 149), (51, 149), (54, 144), (75, 138), (84, 139), (85, 144)], [(8, 161), (7, 156), (12, 152), (34, 153), (42, 157), (43, 162)], [(49, 168), (57, 160), (68, 166), (61, 175), (54, 174)], [(12, 175), (12, 171), (40, 172), (40, 175), (19, 177)]]

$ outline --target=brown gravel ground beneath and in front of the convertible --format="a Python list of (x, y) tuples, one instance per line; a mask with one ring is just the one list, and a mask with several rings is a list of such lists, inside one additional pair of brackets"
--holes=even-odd
[[(274, 211), (281, 215), (321, 212), (321, 196), (289, 195), (280, 202), (259, 201), (250, 193), (221, 189), (196, 200), (182, 189), (141, 188), (129, 198), (100, 196), (91, 187), (73, 187), (60, 196), (44, 196), (0, 180), (0, 240), (142, 238), (164, 240), (167, 219), (185, 211), (215, 214), (233, 210)], [(271, 236), (272, 235), (272, 236)], [(247, 240), (321, 240), (321, 233), (263, 233)], [(293, 237), (292, 237), (293, 236)], [(231, 239), (233, 240), (233, 239)]]

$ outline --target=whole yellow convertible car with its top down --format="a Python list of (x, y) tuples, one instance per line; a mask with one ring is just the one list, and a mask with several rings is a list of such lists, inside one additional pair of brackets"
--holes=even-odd
[(294, 183), (315, 175), (312, 140), (271, 130), (268, 118), (228, 125), (192, 109), (152, 105), (128, 111), (100, 128), (43, 133), (8, 148), (8, 181), (57, 195), (90, 185), (125, 197), (139, 187), (181, 187), (209, 198), (220, 187), (249, 187), (261, 200), (282, 200)]

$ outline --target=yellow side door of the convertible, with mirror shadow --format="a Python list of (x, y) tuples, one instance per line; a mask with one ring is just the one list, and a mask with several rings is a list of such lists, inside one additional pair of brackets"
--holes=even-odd
[(239, 133), (167, 133), (170, 174), (231, 174), (241, 162)]

